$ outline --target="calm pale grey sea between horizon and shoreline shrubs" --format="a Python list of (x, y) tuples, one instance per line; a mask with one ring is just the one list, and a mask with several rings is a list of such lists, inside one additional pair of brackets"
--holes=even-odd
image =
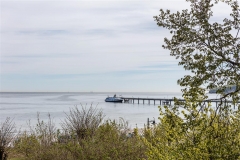
[(128, 122), (129, 128), (143, 128), (147, 120), (158, 123), (159, 101), (154, 105), (145, 101), (140, 103), (105, 102), (108, 96), (134, 98), (181, 98), (181, 93), (171, 92), (1, 92), (0, 93), (0, 123), (10, 117), (18, 130), (28, 130), (40, 120), (47, 122), (50, 114), (55, 126), (61, 129), (61, 123), (71, 108), (82, 106), (96, 107), (105, 115), (105, 120), (120, 118)]

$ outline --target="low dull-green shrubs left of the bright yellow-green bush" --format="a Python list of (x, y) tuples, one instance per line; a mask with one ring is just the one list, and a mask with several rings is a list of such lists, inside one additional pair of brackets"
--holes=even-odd
[[(89, 114), (91, 112), (89, 110), (84, 108), (84, 117), (91, 122), (90, 119), (97, 117)], [(78, 113), (83, 113), (82, 110), (78, 111)], [(95, 116), (99, 115), (97, 112), (94, 113), (96, 113)], [(122, 118), (118, 122), (108, 120), (94, 127), (94, 130), (91, 130), (91, 136), (87, 134), (84, 138), (78, 138), (75, 130), (61, 132), (53, 128), (55, 126), (50, 115), (48, 122), (44, 122), (40, 120), (38, 114), (37, 125), (31, 133), (25, 132), (19, 135), (12, 149), (11, 158), (20, 157), (22, 160), (137, 160), (146, 158), (146, 147), (136, 135), (128, 136), (130, 132), (128, 122)], [(135, 134), (137, 134), (136, 131)]]

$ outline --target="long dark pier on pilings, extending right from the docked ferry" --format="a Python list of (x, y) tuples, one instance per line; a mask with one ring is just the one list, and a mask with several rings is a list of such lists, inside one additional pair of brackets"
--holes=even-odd
[[(150, 102), (153, 102), (154, 105), (172, 105), (174, 104), (174, 99), (171, 98), (133, 98), (133, 97), (120, 97), (123, 99), (124, 103), (137, 103), (137, 104), (150, 104)], [(185, 101), (184, 99), (178, 99), (179, 101)], [(216, 106), (221, 102), (219, 99), (209, 99), (203, 101), (203, 103), (216, 103)], [(232, 101), (224, 101), (224, 103), (233, 103)], [(240, 102), (238, 102), (240, 103)], [(235, 108), (235, 106), (234, 106)]]

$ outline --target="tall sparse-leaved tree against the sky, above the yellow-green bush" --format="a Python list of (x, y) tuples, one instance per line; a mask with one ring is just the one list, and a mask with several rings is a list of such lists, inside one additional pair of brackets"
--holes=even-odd
[[(204, 95), (206, 89), (219, 88), (223, 93), (227, 85), (236, 85), (236, 90), (222, 99), (231, 97), (239, 100), (240, 91), (240, 14), (237, 1), (223, 0), (231, 9), (231, 18), (222, 23), (213, 22), (212, 7), (219, 0), (187, 0), (191, 10), (171, 13), (160, 10), (154, 19), (157, 25), (167, 28), (171, 39), (165, 38), (163, 48), (170, 50), (171, 56), (180, 59), (179, 65), (190, 70), (178, 83), (186, 87), (184, 96), (194, 98), (197, 93)], [(234, 35), (235, 34), (235, 35)], [(204, 96), (204, 98), (206, 98)]]

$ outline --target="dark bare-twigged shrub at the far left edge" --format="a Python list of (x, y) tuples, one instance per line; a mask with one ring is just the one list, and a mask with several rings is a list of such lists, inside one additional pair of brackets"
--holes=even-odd
[(15, 137), (15, 124), (9, 117), (0, 123), (0, 160), (6, 160), (9, 145)]

